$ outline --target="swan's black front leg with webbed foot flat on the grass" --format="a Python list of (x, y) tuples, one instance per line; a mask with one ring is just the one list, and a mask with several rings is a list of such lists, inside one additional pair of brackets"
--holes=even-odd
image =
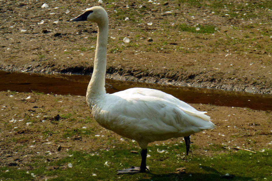
[(141, 173), (141, 172), (146, 172), (148, 170), (147, 165), (146, 165), (146, 160), (147, 160), (147, 149), (141, 151), (141, 166), (140, 167), (131, 167), (127, 168), (124, 170), (116, 170), (117, 174), (123, 174), (123, 173)]

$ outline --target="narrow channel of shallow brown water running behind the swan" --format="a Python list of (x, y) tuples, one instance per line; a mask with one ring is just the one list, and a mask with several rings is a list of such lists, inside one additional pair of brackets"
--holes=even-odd
[[(0, 71), (0, 90), (16, 90), (18, 92), (35, 91), (40, 93), (85, 96), (89, 80), (90, 76), (86, 75), (26, 74)], [(107, 93), (114, 93), (133, 87), (162, 90), (186, 103), (248, 107), (254, 110), (272, 110), (272, 95), (106, 79)]]

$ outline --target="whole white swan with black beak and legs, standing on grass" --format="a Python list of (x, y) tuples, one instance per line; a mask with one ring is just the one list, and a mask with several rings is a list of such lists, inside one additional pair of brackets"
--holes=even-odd
[(130, 88), (106, 94), (106, 52), (108, 41), (108, 15), (100, 6), (86, 9), (70, 21), (92, 21), (98, 25), (94, 71), (87, 88), (87, 103), (94, 119), (104, 128), (134, 139), (142, 148), (140, 168), (118, 170), (119, 173), (145, 172), (147, 144), (184, 136), (186, 153), (190, 147), (190, 134), (213, 129), (206, 112), (200, 112), (183, 101), (159, 90)]

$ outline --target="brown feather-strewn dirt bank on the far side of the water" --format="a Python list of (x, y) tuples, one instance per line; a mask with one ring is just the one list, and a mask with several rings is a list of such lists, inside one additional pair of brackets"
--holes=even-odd
[[(105, 1), (107, 76), (272, 93), (271, 2), (232, 2)], [(97, 26), (68, 20), (97, 1), (42, 4), (1, 1), (0, 69), (91, 73)]]

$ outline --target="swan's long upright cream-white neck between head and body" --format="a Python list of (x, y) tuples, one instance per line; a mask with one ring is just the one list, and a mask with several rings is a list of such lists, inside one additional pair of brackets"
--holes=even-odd
[(105, 74), (107, 62), (107, 42), (108, 42), (108, 18), (103, 23), (98, 24), (97, 44), (94, 56), (94, 71), (87, 88), (87, 102), (94, 100), (99, 95), (106, 94)]

